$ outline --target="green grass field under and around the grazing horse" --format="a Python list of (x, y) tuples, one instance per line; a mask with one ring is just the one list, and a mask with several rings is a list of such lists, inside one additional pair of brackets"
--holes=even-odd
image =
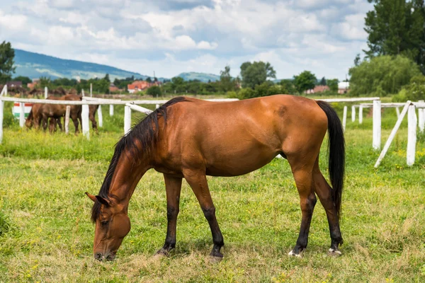
[[(6, 105), (8, 107), (8, 105)], [(335, 104), (341, 112), (342, 105)], [(416, 163), (406, 166), (407, 123), (385, 157), (372, 149), (372, 120), (348, 120), (343, 255), (327, 255), (327, 219), (318, 202), (303, 258), (288, 257), (301, 221), (288, 162), (275, 159), (235, 178), (208, 178), (225, 237), (225, 259), (208, 258), (212, 238), (191, 188), (183, 181), (177, 246), (164, 243), (166, 198), (162, 175), (149, 171), (130, 201), (132, 230), (113, 262), (92, 255), (92, 202), (123, 134), (123, 109), (87, 141), (20, 129), (5, 117), (0, 145), (0, 282), (425, 282), (425, 137)], [(137, 117), (138, 116), (138, 117)], [(351, 117), (348, 111), (348, 116)], [(140, 115), (133, 116), (133, 122)], [(382, 146), (395, 110), (382, 115)], [(326, 146), (321, 168), (326, 171)]]

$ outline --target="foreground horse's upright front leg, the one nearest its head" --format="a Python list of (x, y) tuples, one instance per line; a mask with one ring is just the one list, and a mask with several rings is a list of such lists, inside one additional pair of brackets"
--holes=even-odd
[(169, 251), (176, 247), (177, 215), (179, 214), (181, 180), (164, 174), (166, 190), (166, 238), (164, 247), (158, 250), (159, 255), (168, 255)]

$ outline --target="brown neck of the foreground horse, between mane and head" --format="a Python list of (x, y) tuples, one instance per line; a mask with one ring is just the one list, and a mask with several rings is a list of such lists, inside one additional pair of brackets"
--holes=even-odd
[(122, 154), (113, 174), (109, 194), (120, 202), (129, 202), (137, 183), (152, 166), (146, 158), (139, 157), (135, 162), (132, 157)]

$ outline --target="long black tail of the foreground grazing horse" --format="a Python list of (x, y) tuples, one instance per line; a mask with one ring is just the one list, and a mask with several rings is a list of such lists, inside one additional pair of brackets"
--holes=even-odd
[(317, 101), (317, 104), (326, 113), (328, 118), (328, 152), (329, 152), (329, 178), (332, 183), (332, 197), (336, 207), (338, 218), (341, 216), (341, 196), (344, 187), (344, 171), (345, 171), (345, 141), (344, 130), (342, 129), (341, 120), (334, 108), (329, 103)]

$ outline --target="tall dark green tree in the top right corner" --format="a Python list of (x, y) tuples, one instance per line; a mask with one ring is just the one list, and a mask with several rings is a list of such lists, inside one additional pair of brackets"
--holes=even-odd
[(375, 3), (365, 18), (369, 58), (404, 54), (425, 71), (424, 0), (368, 0)]

